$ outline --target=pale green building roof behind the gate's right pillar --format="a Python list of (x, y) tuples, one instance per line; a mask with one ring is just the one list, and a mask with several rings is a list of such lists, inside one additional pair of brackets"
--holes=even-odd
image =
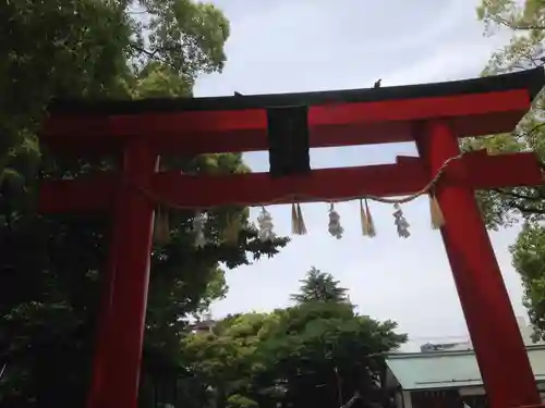
[[(545, 345), (526, 350), (535, 380), (545, 381)], [(386, 363), (395, 382), (407, 391), (483, 384), (473, 350), (393, 354)]]

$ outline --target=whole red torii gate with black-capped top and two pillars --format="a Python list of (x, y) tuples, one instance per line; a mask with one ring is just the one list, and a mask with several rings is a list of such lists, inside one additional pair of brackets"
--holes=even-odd
[[(41, 134), (50, 150), (122, 156), (122, 165), (111, 174), (44, 181), (39, 197), (44, 212), (111, 213), (111, 268), (88, 407), (136, 408), (156, 207), (143, 190), (165, 202), (203, 209), (292, 202), (295, 197), (412, 194), (460, 154), (459, 137), (512, 131), (544, 83), (537, 69), (378, 89), (55, 103)], [(420, 158), (280, 178), (158, 172), (160, 154), (267, 150), (267, 108), (288, 106), (307, 107), (311, 147), (414, 140)], [(451, 162), (435, 188), (445, 218), (441, 235), (494, 408), (536, 405), (540, 396), (474, 190), (542, 182), (533, 153), (479, 151)]]

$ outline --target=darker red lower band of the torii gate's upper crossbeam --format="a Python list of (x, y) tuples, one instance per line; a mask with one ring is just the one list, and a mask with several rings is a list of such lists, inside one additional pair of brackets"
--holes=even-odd
[[(451, 123), (458, 135), (480, 136), (504, 133), (513, 128), (525, 111), (488, 113), (455, 118)], [(320, 126), (311, 128), (313, 147), (337, 147), (383, 143), (413, 141), (411, 121), (364, 123), (343, 126)], [(97, 133), (99, 134), (99, 133)], [(58, 152), (82, 152), (86, 156), (119, 151), (130, 137), (108, 138), (108, 143), (95, 134), (78, 137), (48, 137), (48, 146)], [(150, 148), (159, 154), (184, 152), (189, 156), (221, 153), (228, 151), (258, 151), (268, 148), (265, 131), (214, 133), (164, 134), (149, 140)]]

